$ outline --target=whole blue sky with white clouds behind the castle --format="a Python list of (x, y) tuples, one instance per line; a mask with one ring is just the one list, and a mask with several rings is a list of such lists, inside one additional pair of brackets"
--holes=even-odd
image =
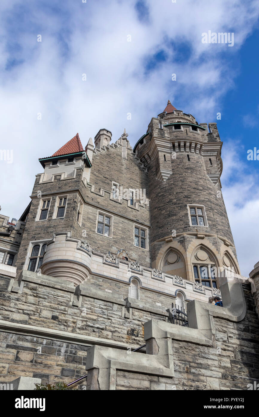
[[(247, 161), (259, 149), (258, 1), (2, 0), (0, 12), (0, 148), (13, 150), (13, 163), (0, 161), (1, 214), (20, 217), (38, 158), (77, 132), (85, 146), (101, 127), (112, 141), (126, 128), (134, 146), (169, 98), (217, 122), (222, 192), (249, 274), (259, 260), (259, 161)], [(234, 32), (234, 46), (203, 44), (209, 30)]]

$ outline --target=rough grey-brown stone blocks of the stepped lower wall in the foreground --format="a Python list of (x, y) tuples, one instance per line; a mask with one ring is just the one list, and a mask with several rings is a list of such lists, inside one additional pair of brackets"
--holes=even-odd
[[(155, 304), (155, 300), (161, 302), (156, 294), (153, 300), (145, 300), (146, 304), (142, 301), (144, 305), (127, 309), (125, 292), (119, 294), (121, 284), (115, 281), (110, 281), (112, 292), (96, 281), (95, 287), (93, 282), (82, 284), (81, 295), (75, 296), (72, 283), (29, 275), (24, 276), (19, 289), (16, 281), (1, 277), (1, 382), (18, 376), (72, 382), (87, 373), (91, 346), (116, 348), (119, 357), (119, 352), (145, 344), (144, 323), (150, 319), (168, 322), (163, 306)], [(172, 339), (173, 377), (152, 374), (151, 367), (148, 373), (125, 367), (116, 371), (116, 389), (247, 389), (247, 384), (259, 378), (259, 324), (250, 288), (243, 288), (246, 316), (237, 323), (215, 317), (212, 344), (206, 345), (202, 338), (200, 342), (180, 341), (177, 334), (183, 328), (171, 325), (176, 334)], [(193, 329), (186, 331), (191, 334)], [(141, 352), (137, 360), (142, 355), (143, 360), (153, 358)], [(131, 355), (136, 353), (128, 352), (126, 358)], [(91, 372), (87, 384), (87, 389), (96, 389)], [(75, 388), (86, 389), (85, 380)]]

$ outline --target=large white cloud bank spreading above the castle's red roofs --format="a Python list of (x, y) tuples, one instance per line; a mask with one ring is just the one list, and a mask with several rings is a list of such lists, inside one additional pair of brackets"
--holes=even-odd
[[(138, 20), (135, 3), (2, 0), (0, 147), (13, 149), (14, 162), (0, 161), (5, 178), (1, 214), (19, 218), (30, 201), (35, 174), (42, 171), (37, 159), (54, 153), (76, 132), (85, 146), (101, 127), (112, 131), (114, 141), (126, 128), (134, 145), (168, 98), (199, 122), (215, 121), (237, 75), (226, 58), (242, 46), (257, 22), (257, 0), (148, 0), (148, 23)], [(201, 34), (208, 30), (234, 32), (234, 47), (202, 44)], [(182, 43), (191, 52), (179, 61)], [(147, 75), (146, 63), (160, 50), (167, 59)], [(5, 71), (16, 55), (24, 62)], [(42, 120), (37, 120), (39, 112)], [(235, 190), (229, 192), (234, 195)], [(250, 196), (247, 210), (249, 201)]]

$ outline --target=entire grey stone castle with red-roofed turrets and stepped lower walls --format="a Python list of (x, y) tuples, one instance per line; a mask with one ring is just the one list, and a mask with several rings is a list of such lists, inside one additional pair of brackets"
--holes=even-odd
[(133, 149), (111, 137), (40, 158), (20, 219), (0, 214), (0, 382), (247, 389), (259, 263), (240, 275), (217, 124), (168, 100)]

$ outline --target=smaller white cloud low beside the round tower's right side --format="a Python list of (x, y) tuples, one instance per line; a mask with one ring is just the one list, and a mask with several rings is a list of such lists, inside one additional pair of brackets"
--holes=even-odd
[[(241, 274), (249, 276), (249, 272), (259, 260), (259, 161), (243, 162), (240, 143), (234, 141), (229, 141), (223, 146), (222, 158), (222, 195)], [(234, 179), (229, 181), (233, 173)]]

